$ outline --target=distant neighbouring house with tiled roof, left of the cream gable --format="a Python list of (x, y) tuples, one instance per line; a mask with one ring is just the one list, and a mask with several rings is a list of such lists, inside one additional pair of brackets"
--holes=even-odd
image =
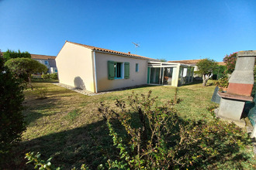
[(38, 55), (38, 54), (31, 54), (31, 59), (35, 59), (39, 63), (44, 64), (47, 66), (47, 73), (57, 73), (57, 66), (56, 66), (56, 56), (45, 56), (45, 55)]

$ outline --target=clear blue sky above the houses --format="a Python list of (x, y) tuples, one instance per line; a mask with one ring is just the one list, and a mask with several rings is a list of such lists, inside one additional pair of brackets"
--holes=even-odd
[(256, 49), (256, 0), (0, 0), (2, 51), (56, 56), (65, 40), (155, 59), (222, 61)]

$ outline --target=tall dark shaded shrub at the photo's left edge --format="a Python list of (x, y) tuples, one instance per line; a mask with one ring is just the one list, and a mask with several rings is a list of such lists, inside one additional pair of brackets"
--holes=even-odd
[(0, 165), (25, 130), (22, 115), (24, 96), (20, 83), (20, 80), (4, 66), (4, 59), (0, 56)]

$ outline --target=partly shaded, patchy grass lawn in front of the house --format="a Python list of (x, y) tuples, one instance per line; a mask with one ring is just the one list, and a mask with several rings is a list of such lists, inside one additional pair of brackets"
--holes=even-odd
[[(13, 151), (16, 158), (12, 164), (21, 169), (33, 168), (25, 165), (27, 161), (23, 159), (29, 151), (40, 151), (43, 159), (53, 157), (51, 163), (64, 169), (79, 168), (82, 163), (95, 168), (111, 155), (118, 154), (112, 150), (112, 138), (98, 112), (99, 102), (114, 106), (114, 100), (125, 100), (132, 91), (147, 93), (152, 90), (160, 103), (175, 95), (175, 87), (167, 86), (140, 87), (88, 97), (47, 81), (34, 81), (33, 85), (47, 87), (48, 93), (47, 99), (38, 100), (32, 90), (24, 91), (27, 129), (22, 134), (22, 142)], [(210, 101), (214, 88), (202, 87), (201, 83), (178, 87), (178, 97), (183, 100), (175, 106), (178, 114), (192, 120), (211, 119), (207, 107), (216, 105)]]

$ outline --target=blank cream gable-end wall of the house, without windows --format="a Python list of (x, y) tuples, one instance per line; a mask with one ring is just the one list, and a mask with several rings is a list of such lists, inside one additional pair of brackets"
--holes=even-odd
[(56, 65), (60, 83), (95, 92), (92, 49), (66, 42)]

